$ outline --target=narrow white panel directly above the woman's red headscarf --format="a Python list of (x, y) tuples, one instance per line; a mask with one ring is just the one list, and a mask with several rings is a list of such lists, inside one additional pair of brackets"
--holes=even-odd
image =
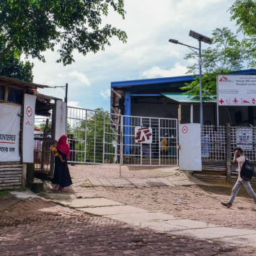
[(66, 134), (66, 103), (57, 100), (55, 139), (58, 141), (62, 134)]

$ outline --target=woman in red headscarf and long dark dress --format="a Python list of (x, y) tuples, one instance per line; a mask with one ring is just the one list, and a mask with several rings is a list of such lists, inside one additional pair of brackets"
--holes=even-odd
[(61, 137), (58, 139), (58, 154), (65, 161), (61, 162), (61, 157), (54, 157), (54, 177), (52, 179), (53, 184), (56, 184), (54, 190), (65, 191), (64, 187), (69, 187), (72, 184), (67, 163), (67, 159), (70, 155), (67, 139), (68, 138), (65, 134), (61, 135)]

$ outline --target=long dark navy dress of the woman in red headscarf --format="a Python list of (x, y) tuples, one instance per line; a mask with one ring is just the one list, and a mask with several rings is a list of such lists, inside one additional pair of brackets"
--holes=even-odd
[(72, 184), (72, 180), (69, 174), (66, 154), (63, 154), (61, 151), (58, 151), (58, 154), (62, 156), (65, 162), (61, 162), (58, 156), (54, 157), (54, 177), (51, 182), (53, 182), (53, 184), (59, 184), (61, 187), (69, 187)]

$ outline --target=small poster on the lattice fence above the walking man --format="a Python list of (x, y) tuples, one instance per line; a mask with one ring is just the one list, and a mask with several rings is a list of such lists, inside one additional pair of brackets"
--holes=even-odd
[(237, 147), (252, 150), (252, 128), (237, 128)]

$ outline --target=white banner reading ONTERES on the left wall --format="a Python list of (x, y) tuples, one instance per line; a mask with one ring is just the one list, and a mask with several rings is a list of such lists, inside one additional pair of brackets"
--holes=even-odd
[(0, 104), (0, 162), (20, 161), (19, 131), (21, 107)]

